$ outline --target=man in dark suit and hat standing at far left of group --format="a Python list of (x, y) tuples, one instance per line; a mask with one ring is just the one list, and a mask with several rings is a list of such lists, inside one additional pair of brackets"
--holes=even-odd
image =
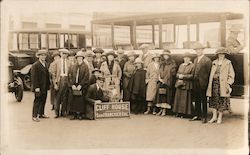
[(39, 122), (39, 118), (49, 118), (44, 114), (44, 107), (47, 99), (47, 91), (50, 87), (48, 65), (46, 64), (46, 50), (39, 50), (36, 53), (38, 60), (31, 68), (32, 91), (35, 94), (33, 103), (32, 120)]

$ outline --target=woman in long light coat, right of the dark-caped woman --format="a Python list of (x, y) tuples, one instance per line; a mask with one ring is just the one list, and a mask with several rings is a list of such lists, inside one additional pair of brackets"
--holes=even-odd
[(153, 108), (153, 114), (156, 114), (155, 97), (157, 92), (157, 82), (159, 81), (160, 55), (155, 53), (152, 55), (152, 62), (147, 67), (146, 84), (147, 93), (146, 101), (148, 103), (147, 111), (144, 114), (149, 114)]

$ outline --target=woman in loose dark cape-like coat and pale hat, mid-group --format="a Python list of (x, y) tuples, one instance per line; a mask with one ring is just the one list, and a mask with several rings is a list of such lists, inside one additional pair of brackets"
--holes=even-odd
[(130, 93), (131, 112), (138, 114), (145, 111), (146, 107), (146, 70), (143, 69), (143, 62), (140, 58), (135, 60), (135, 70), (128, 83)]

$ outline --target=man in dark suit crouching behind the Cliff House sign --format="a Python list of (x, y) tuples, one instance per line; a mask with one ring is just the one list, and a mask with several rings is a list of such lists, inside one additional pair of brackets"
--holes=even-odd
[(87, 100), (85, 116), (88, 119), (94, 119), (94, 104), (101, 102), (108, 102), (109, 98), (104, 93), (104, 77), (97, 77), (96, 83), (92, 84), (88, 88), (88, 92), (85, 96)]

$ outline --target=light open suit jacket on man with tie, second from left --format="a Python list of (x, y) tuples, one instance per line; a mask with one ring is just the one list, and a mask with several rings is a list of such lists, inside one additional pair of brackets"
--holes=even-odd
[[(71, 63), (66, 59), (66, 63), (67, 63), (67, 67), (68, 67), (68, 72), (69, 72), (69, 68), (71, 66)], [(60, 79), (61, 79), (61, 64), (62, 61), (61, 59), (58, 59), (57, 61), (55, 61), (55, 66), (54, 68), (51, 70), (51, 74), (52, 74), (52, 81), (53, 84), (59, 84)]]

